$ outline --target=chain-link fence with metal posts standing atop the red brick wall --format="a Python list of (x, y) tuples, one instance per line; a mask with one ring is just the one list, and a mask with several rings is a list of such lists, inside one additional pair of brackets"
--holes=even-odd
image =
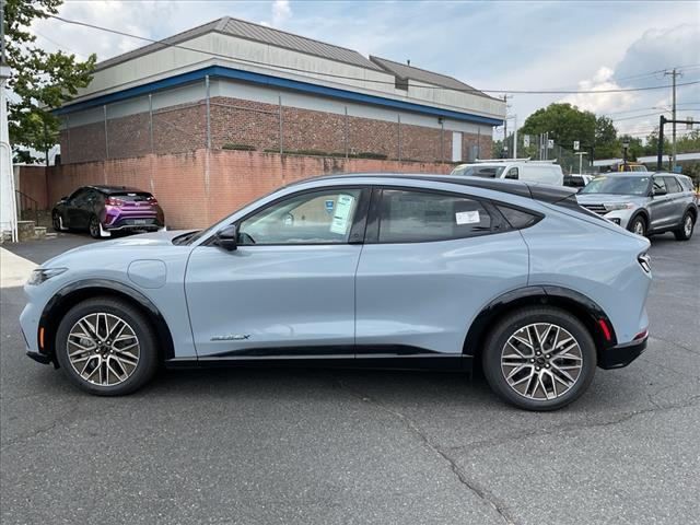
[[(188, 102), (192, 100), (197, 102)], [(61, 162), (202, 148), (420, 162), (453, 159), (453, 131), (440, 119), (406, 122), (401, 114), (388, 110), (377, 116), (327, 101), (319, 102), (320, 109), (283, 102), (282, 96), (265, 102), (218, 92), (211, 96), (207, 81), (70, 113), (61, 122)], [(460, 137), (462, 160), (490, 152), (490, 135)]]

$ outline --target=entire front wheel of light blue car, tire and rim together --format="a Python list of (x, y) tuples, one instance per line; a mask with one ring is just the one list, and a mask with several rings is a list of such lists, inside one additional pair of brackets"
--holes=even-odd
[(56, 357), (66, 376), (98, 396), (130, 394), (158, 368), (158, 346), (148, 319), (126, 301), (90, 299), (73, 306), (56, 335)]

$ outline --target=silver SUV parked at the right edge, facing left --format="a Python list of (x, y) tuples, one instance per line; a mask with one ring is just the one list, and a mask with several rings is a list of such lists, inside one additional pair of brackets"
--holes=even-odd
[(579, 203), (638, 235), (674, 232), (688, 241), (698, 221), (692, 182), (673, 173), (620, 173), (594, 178)]

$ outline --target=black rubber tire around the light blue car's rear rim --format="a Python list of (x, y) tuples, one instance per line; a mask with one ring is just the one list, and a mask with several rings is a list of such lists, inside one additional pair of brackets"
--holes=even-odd
[[(516, 392), (509, 384), (501, 365), (502, 352), (511, 336), (528, 325), (539, 323), (556, 325), (573, 336), (579, 343), (582, 359), (581, 369), (573, 385), (552, 399), (533, 399)], [(552, 359), (551, 362), (553, 364), (555, 360)], [(487, 382), (503, 400), (526, 410), (557, 410), (578, 399), (588, 388), (595, 375), (596, 349), (586, 327), (571, 314), (549, 306), (528, 306), (510, 314), (490, 331), (483, 347), (481, 364)], [(537, 386), (535, 393), (537, 393)]]

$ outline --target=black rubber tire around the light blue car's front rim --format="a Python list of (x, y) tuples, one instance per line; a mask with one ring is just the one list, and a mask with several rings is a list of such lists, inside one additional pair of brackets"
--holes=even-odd
[[(139, 357), (136, 366), (126, 380), (114, 385), (105, 385), (104, 381), (103, 384), (86, 381), (81, 376), (80, 372), (75, 370), (73, 364), (71, 364), (68, 357), (68, 336), (71, 329), (83, 317), (96, 313), (106, 313), (126, 322), (136, 338), (138, 338)], [(149, 320), (128, 302), (108, 296), (88, 299), (73, 306), (61, 319), (56, 334), (55, 348), (60, 368), (68, 380), (79, 388), (97, 396), (122, 396), (138, 390), (151, 380), (161, 361), (160, 349)], [(92, 350), (86, 352), (86, 354), (88, 353), (92, 355)], [(82, 366), (82, 363), (79, 366)], [(94, 368), (96, 366), (93, 365), (92, 369)], [(124, 371), (126, 369), (122, 366), (121, 370)], [(108, 382), (108, 372), (106, 376)]]

